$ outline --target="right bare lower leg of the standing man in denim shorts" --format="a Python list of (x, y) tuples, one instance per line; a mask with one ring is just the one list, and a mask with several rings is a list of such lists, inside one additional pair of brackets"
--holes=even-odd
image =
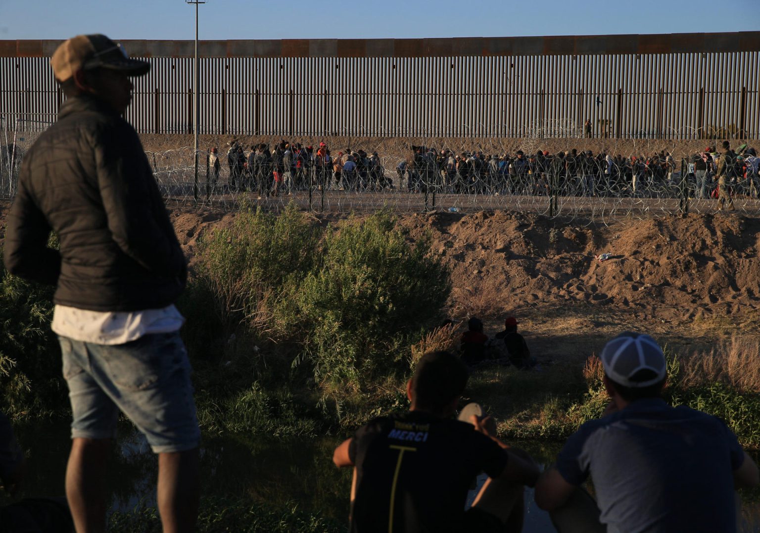
[(195, 531), (199, 485), (197, 448), (158, 454), (158, 512), (163, 533)]

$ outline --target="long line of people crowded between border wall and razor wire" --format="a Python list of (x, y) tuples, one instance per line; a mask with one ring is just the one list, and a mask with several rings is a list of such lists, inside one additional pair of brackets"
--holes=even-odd
[[(724, 143), (725, 144), (725, 143)], [(411, 146), (411, 154), (395, 165), (397, 187), (410, 192), (435, 190), (451, 194), (675, 196), (687, 190), (692, 198), (718, 198), (718, 161), (725, 158), (730, 194), (758, 198), (760, 172), (754, 148), (739, 151), (716, 148), (676, 160), (667, 151), (623, 157), (591, 150), (536, 151), (524, 154), (484, 154), (477, 150), (455, 154), (448, 149)], [(377, 152), (339, 151), (332, 155), (325, 142), (312, 146), (281, 141), (274, 148), (256, 144), (245, 151), (237, 141), (226, 154), (229, 186), (233, 191), (259, 195), (290, 194), (294, 190), (334, 189), (377, 191), (394, 189)], [(218, 149), (209, 157), (212, 184), (222, 167)]]

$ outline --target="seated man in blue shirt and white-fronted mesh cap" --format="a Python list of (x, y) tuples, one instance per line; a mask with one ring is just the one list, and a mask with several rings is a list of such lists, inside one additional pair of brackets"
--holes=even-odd
[[(649, 335), (618, 335), (601, 360), (605, 416), (581, 426), (536, 485), (557, 531), (736, 531), (734, 488), (758, 484), (736, 436), (663, 401), (665, 357)], [(579, 488), (589, 475), (596, 503)]]

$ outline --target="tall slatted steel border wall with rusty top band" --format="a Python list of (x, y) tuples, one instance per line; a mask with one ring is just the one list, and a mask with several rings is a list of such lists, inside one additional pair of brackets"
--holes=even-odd
[[(0, 116), (56, 113), (59, 40), (0, 40)], [(191, 133), (192, 41), (123, 40), (139, 132)], [(760, 32), (201, 41), (199, 132), (760, 138)]]

